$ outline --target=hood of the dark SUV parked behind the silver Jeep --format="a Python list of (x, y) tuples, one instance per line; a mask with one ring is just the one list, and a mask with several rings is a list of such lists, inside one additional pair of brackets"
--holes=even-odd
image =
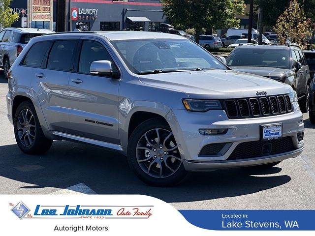
[(281, 77), (286, 74), (289, 69), (281, 69), (275, 67), (258, 67), (258, 66), (230, 66), (231, 69), (250, 73), (254, 75), (260, 75), (265, 77)]

